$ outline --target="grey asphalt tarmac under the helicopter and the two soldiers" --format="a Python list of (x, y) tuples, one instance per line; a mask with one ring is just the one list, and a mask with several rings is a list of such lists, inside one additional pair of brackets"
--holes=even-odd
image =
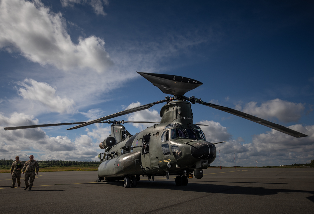
[(209, 168), (187, 186), (174, 177), (124, 188), (95, 183), (97, 171), (39, 172), (28, 191), (0, 174), (0, 213), (314, 213), (314, 168)]

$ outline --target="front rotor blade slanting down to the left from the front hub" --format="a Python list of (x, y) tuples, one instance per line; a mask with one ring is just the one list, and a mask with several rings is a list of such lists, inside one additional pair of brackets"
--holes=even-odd
[(120, 111), (120, 112), (115, 113), (115, 114), (112, 114), (112, 115), (108, 115), (108, 116), (105, 116), (105, 117), (101, 117), (101, 118), (99, 118), (99, 119), (92, 120), (92, 121), (89, 121), (89, 122), (87, 122), (87, 123), (83, 123), (83, 124), (78, 125), (78, 126), (74, 126), (74, 127), (69, 128), (69, 129), (67, 129), (67, 130), (72, 130), (72, 129), (81, 128), (81, 127), (88, 126), (88, 125), (91, 125), (91, 124), (94, 124), (94, 123), (97, 123), (97, 122), (100, 122), (100, 121), (103, 121), (103, 120), (109, 120), (109, 119), (114, 118), (114, 117), (118, 117), (118, 116), (122, 116), (122, 115), (127, 115), (127, 114), (130, 114), (130, 113), (133, 113), (133, 112), (137, 112), (137, 111), (149, 109), (150, 107), (154, 106), (155, 104), (164, 103), (164, 102), (167, 102), (167, 101), (168, 101), (168, 99), (164, 99), (164, 100), (160, 100), (160, 101), (157, 101), (157, 102), (154, 102), (154, 103), (149, 103), (149, 104), (146, 104), (146, 105), (141, 105), (141, 106), (138, 106), (138, 107), (135, 107), (135, 108), (132, 108), (132, 109)]

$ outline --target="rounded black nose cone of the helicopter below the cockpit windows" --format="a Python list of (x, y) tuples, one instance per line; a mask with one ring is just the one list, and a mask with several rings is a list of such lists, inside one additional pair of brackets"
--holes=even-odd
[(214, 159), (216, 147), (210, 142), (195, 142), (191, 146), (191, 154), (194, 158), (201, 160)]

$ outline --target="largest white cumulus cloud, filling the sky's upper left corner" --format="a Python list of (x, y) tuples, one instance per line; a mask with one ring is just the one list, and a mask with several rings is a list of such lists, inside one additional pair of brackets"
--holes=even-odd
[(40, 0), (2, 0), (0, 20), (0, 49), (19, 51), (32, 62), (97, 72), (113, 65), (104, 40), (91, 35), (74, 44), (62, 14), (51, 12)]

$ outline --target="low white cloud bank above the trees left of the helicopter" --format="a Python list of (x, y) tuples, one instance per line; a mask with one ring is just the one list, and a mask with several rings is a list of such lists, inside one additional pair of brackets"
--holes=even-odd
[[(27, 160), (29, 155), (33, 154), (35, 159), (41, 160), (97, 160), (99, 142), (97, 139), (93, 142), (93, 136), (82, 134), (73, 141), (68, 136), (50, 137), (41, 128), (10, 131), (3, 129), (37, 123), (38, 120), (33, 116), (23, 113), (13, 113), (10, 117), (0, 113), (0, 157), (14, 159), (19, 156), (21, 160)], [(98, 132), (101, 131), (103, 130)]]

